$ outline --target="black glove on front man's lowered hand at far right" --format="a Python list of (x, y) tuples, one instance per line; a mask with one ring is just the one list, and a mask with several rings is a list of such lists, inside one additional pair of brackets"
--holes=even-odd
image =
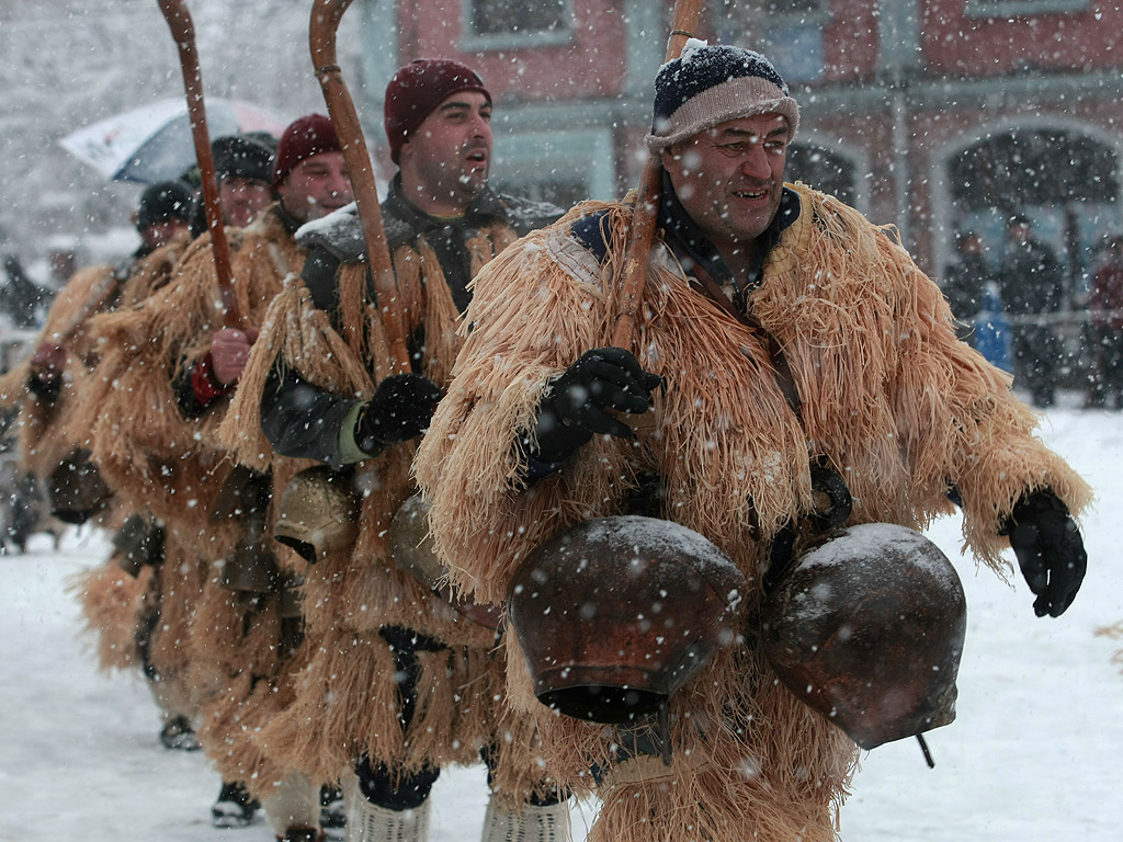
[(1033, 492), (1014, 505), (998, 534), (1010, 536), (1022, 576), (1038, 597), (1034, 613), (1063, 614), (1088, 568), (1084, 539), (1068, 506), (1051, 491)]

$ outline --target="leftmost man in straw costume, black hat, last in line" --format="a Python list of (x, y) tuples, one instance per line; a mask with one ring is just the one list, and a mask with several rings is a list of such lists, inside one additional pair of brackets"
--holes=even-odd
[[(167, 283), (190, 241), (191, 209), (191, 192), (177, 182), (146, 187), (134, 217), (140, 246), (116, 268), (91, 266), (75, 273), (56, 296), (35, 354), (6, 378), (6, 393), (20, 402), (26, 468), (51, 486), (53, 505), (67, 522), (93, 519), (116, 530), (134, 513), (111, 496), (89, 459), (91, 430), (82, 408), (91, 404), (91, 394), (98, 391), (93, 372), (102, 351), (91, 337), (90, 323), (99, 313), (128, 309)], [(121, 536), (128, 531), (119, 532), (115, 544), (122, 544)], [(89, 628), (98, 635), (100, 666), (141, 666), (163, 720), (161, 742), (167, 748), (197, 749), (188, 694), (173, 676), (162, 679), (147, 660), (147, 628), (141, 616), (150, 603), (152, 571), (138, 577), (126, 574), (120, 562), (128, 551), (118, 546), (104, 565), (80, 574), (73, 583)]]

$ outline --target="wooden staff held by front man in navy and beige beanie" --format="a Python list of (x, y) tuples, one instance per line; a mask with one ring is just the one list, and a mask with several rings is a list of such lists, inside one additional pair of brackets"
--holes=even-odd
[[(686, 39), (694, 37), (703, 0), (676, 0), (670, 36), (667, 38), (666, 61), (677, 58)], [(655, 241), (655, 220), (659, 208), (659, 187), (663, 183), (663, 161), (658, 153), (650, 153), (643, 165), (639, 189), (636, 193), (636, 211), (628, 245), (624, 249), (624, 268), (620, 280), (620, 310), (612, 329), (612, 344), (628, 348), (636, 330), (636, 312), (643, 296), (647, 267), (651, 259), (651, 244)]]

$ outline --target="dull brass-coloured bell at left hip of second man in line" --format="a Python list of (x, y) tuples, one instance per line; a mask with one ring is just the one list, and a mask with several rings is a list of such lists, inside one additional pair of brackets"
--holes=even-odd
[(273, 537), (313, 564), (354, 543), (359, 509), (349, 476), (327, 465), (304, 468), (281, 492)]

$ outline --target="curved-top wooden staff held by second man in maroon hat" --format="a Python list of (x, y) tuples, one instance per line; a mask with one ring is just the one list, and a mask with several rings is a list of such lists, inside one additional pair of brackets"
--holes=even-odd
[(366, 149), (366, 140), (363, 139), (363, 127), (355, 111), (355, 102), (336, 63), (336, 30), (350, 4), (351, 0), (313, 0), (309, 43), (312, 48), (316, 77), (323, 89), (328, 115), (339, 137), (351, 186), (355, 190), (358, 219), (363, 226), (363, 239), (366, 242), (367, 259), (374, 277), (374, 292), (378, 298), (386, 342), (390, 346), (391, 372), (402, 373), (409, 370), (410, 364), (405, 342), (405, 320), (399, 304), (398, 281), (390, 259), (390, 248), (386, 246), (382, 209), (378, 207), (378, 190), (374, 183), (374, 168)]

